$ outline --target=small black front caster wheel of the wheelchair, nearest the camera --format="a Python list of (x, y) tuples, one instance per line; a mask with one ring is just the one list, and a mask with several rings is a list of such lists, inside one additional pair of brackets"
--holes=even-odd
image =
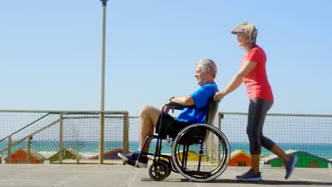
[(149, 176), (153, 181), (162, 181), (169, 175), (168, 167), (165, 162), (157, 161), (151, 164)]

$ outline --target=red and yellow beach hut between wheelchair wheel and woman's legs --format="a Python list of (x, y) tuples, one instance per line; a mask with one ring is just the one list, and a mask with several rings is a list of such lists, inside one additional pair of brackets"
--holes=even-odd
[(231, 159), (228, 166), (251, 166), (251, 157), (243, 150), (236, 149), (231, 152)]

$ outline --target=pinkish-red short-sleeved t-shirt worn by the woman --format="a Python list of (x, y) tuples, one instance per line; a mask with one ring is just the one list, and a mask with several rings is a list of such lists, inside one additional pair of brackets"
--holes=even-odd
[(257, 63), (255, 68), (243, 77), (249, 98), (263, 98), (273, 102), (272, 89), (266, 75), (266, 55), (264, 50), (258, 45), (253, 47), (249, 53), (243, 56), (241, 67), (249, 61)]

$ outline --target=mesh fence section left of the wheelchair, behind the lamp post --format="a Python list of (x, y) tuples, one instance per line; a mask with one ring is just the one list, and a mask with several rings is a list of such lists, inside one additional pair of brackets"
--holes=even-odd
[[(104, 163), (106, 164), (122, 163), (116, 154), (123, 150), (123, 115), (123, 113), (105, 113)], [(0, 127), (2, 163), (59, 163), (60, 160), (62, 163), (98, 163), (99, 161), (99, 113), (2, 112)], [(11, 155), (10, 161), (9, 155)]]

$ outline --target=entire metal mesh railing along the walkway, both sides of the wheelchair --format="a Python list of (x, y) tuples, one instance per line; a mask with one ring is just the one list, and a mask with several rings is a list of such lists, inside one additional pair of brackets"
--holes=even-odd
[[(228, 137), (232, 152), (250, 154), (247, 117), (247, 113), (216, 115), (214, 125)], [(121, 164), (116, 154), (135, 151), (139, 142), (138, 117), (126, 111), (105, 112), (104, 140), (99, 137), (99, 111), (0, 111), (0, 127), (3, 163)], [(326, 167), (321, 164), (326, 162), (331, 167), (332, 115), (268, 114), (263, 133), (287, 153), (306, 159), (303, 166)], [(98, 162), (100, 141), (103, 163)], [(150, 152), (154, 149), (152, 142)], [(162, 150), (170, 153), (171, 147)], [(261, 159), (264, 166), (274, 166), (275, 157), (264, 148)]]

